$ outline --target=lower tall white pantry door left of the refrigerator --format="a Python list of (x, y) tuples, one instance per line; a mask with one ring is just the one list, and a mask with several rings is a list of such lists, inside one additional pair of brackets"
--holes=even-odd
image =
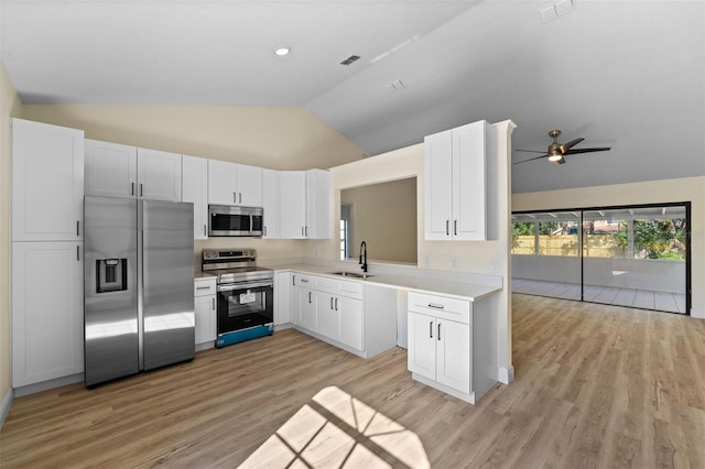
[(12, 243), (12, 386), (84, 371), (83, 242)]

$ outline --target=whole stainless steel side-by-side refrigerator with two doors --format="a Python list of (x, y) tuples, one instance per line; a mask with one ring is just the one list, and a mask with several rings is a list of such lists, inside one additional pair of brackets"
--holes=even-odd
[(191, 360), (193, 204), (86, 197), (86, 386)]

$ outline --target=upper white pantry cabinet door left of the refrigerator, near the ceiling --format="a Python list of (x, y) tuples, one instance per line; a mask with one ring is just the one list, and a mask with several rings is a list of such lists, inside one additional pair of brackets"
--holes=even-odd
[(12, 119), (12, 241), (83, 239), (84, 132)]

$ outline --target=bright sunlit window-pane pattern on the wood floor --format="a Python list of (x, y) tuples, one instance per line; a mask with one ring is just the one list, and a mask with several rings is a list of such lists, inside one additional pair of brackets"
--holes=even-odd
[(336, 386), (321, 390), (241, 468), (429, 468), (413, 432)]

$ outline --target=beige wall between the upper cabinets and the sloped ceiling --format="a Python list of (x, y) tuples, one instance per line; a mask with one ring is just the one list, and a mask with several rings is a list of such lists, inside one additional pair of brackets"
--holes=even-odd
[(301, 107), (28, 105), (22, 117), (87, 139), (271, 170), (328, 168), (364, 150)]

